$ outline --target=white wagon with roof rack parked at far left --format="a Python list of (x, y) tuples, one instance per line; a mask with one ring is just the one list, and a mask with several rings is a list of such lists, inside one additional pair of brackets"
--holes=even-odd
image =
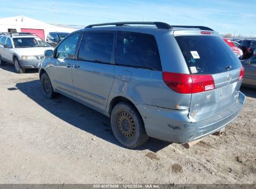
[(53, 50), (44, 40), (29, 33), (0, 35), (0, 65), (12, 63), (17, 73), (38, 68), (45, 50)]

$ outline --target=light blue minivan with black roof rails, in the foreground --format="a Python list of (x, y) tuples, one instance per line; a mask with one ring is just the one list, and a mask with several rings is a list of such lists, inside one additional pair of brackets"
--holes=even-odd
[(197, 141), (222, 130), (245, 101), (244, 68), (208, 27), (88, 25), (45, 57), (39, 67), (45, 97), (62, 93), (105, 114), (116, 139), (130, 148), (148, 136)]

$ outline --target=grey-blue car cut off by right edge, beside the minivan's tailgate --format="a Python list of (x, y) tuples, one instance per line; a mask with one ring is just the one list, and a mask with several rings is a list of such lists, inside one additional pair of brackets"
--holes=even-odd
[(241, 61), (245, 75), (242, 85), (256, 88), (256, 55)]

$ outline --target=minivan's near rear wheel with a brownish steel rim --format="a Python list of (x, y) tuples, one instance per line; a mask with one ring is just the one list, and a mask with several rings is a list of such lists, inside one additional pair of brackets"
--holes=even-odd
[(139, 147), (148, 140), (140, 113), (130, 103), (116, 104), (111, 112), (111, 127), (118, 142), (128, 148)]

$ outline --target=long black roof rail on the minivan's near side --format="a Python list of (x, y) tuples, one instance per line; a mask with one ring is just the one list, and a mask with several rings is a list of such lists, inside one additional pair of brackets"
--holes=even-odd
[(104, 23), (104, 24), (92, 24), (87, 25), (85, 28), (92, 28), (95, 26), (103, 26), (103, 25), (116, 25), (116, 26), (123, 26), (123, 25), (156, 25), (158, 29), (173, 29), (173, 27), (169, 24), (166, 24), (164, 22), (110, 22), (110, 23)]

